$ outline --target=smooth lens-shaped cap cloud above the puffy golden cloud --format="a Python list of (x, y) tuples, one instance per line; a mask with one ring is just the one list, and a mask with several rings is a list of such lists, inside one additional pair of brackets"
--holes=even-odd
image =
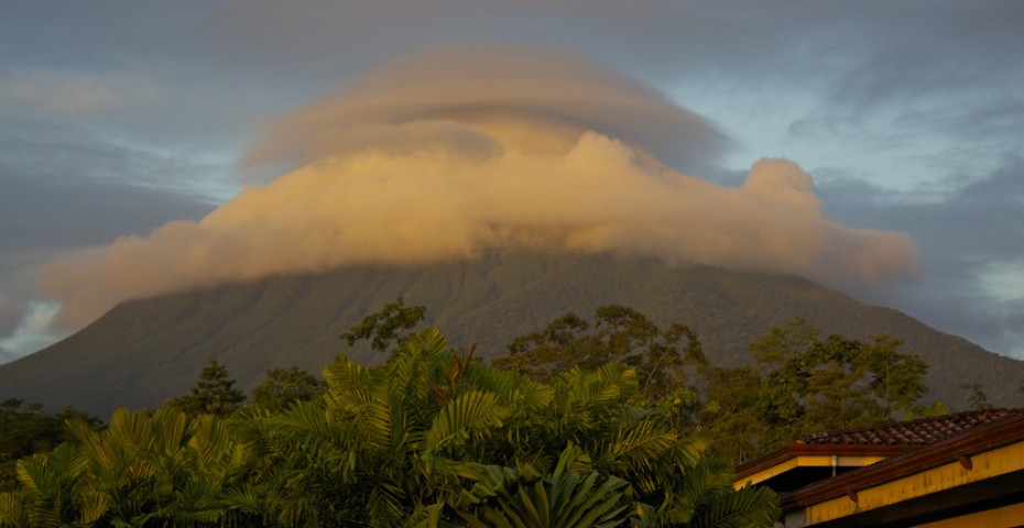
[(400, 57), (342, 94), (277, 119), (244, 163), (311, 163), (372, 148), (489, 155), (492, 130), (519, 147), (565, 151), (587, 130), (677, 168), (713, 161), (726, 138), (646, 86), (562, 52), (442, 46)]

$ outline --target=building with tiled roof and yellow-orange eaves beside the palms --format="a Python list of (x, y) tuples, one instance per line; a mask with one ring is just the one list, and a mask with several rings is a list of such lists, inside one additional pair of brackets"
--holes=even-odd
[(1024, 527), (1024, 409), (830, 431), (737, 468), (797, 528)]

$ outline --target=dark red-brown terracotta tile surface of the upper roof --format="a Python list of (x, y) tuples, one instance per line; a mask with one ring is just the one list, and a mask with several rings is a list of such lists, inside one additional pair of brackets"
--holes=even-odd
[(969, 410), (954, 415), (893, 421), (878, 426), (825, 431), (803, 438), (796, 443), (832, 446), (930, 446), (963, 435), (988, 424), (1017, 416), (1024, 409)]

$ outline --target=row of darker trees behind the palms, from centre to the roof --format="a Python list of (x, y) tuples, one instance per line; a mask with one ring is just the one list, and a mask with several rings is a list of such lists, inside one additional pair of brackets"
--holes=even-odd
[(828, 429), (906, 418), (926, 411), (927, 364), (898, 352), (901, 341), (821, 337), (794, 319), (753, 343), (755, 364), (709, 363), (697, 337), (682, 324), (660, 330), (620, 306), (600, 307), (590, 323), (565, 315), (543, 331), (516, 338), (498, 367), (552, 383), (574, 369), (629, 366), (635, 395), (675, 427), (702, 426), (711, 452), (740, 463)]

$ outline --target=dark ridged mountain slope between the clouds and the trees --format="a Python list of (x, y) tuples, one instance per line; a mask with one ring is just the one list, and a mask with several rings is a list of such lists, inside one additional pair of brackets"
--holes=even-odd
[[(620, 304), (660, 324), (688, 324), (712, 361), (736, 365), (749, 361), (750, 342), (799, 316), (826, 334), (905, 339), (901, 351), (929, 363), (932, 396), (952, 408), (967, 406), (960, 385), (971, 382), (998, 405), (1024, 405), (1017, 392), (1024, 362), (797, 276), (537, 253), (355, 266), (126, 301), (64, 341), (0, 365), (0, 398), (106, 416), (116, 407), (156, 406), (187, 393), (213, 359), (247, 391), (272, 367), (318, 373), (347, 348), (339, 333), (399, 296), (425, 305), (427, 322), (453, 345), (477, 342), (482, 358), (505, 353), (513, 337), (567, 311), (589, 317), (600, 305)], [(346, 352), (363, 363), (383, 359), (366, 348)]]

